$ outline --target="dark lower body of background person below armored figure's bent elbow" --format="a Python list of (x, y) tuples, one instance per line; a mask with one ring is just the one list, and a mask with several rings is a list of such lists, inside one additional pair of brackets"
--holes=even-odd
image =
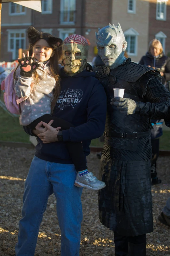
[(159, 138), (163, 135), (163, 119), (151, 119), (153, 129), (151, 130), (152, 158), (151, 158), (151, 179), (152, 185), (160, 184), (161, 179), (158, 179), (156, 172), (156, 161), (159, 156)]

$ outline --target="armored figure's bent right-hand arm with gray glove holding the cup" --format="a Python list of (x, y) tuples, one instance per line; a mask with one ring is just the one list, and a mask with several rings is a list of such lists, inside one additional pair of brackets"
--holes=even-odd
[[(127, 115), (140, 114), (152, 119), (170, 119), (170, 92), (156, 78), (148, 76), (147, 92), (144, 97), (146, 102), (135, 101), (129, 98), (115, 97), (110, 104)], [(140, 81), (142, 84), (142, 80)]]

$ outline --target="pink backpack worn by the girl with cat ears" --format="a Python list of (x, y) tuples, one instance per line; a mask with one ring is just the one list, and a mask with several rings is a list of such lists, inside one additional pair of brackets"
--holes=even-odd
[[(21, 110), (20, 110), (19, 104), (22, 101), (26, 100), (29, 97), (29, 95), (27, 97), (24, 97), (24, 98), (19, 98), (16, 95), (15, 90), (14, 90), (14, 77), (13, 77), (14, 71), (15, 70), (12, 70), (12, 72), (5, 78), (5, 80), (2, 81), (1, 90), (2, 91), (5, 90), (5, 92), (4, 92), (4, 102), (5, 102), (5, 105), (7, 107), (7, 110), (9, 112), (11, 112), (12, 114), (20, 115)], [(34, 83), (31, 84), (30, 94), (33, 90), (33, 86), (34, 86)]]

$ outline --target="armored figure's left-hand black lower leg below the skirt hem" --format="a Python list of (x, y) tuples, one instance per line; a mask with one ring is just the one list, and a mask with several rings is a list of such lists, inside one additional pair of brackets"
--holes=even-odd
[(114, 232), (115, 256), (128, 256), (128, 240), (126, 236), (121, 236)]

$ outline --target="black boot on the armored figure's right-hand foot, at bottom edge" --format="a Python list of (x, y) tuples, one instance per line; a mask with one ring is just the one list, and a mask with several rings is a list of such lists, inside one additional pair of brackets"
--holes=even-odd
[(128, 242), (129, 256), (146, 256), (146, 243), (132, 244)]

